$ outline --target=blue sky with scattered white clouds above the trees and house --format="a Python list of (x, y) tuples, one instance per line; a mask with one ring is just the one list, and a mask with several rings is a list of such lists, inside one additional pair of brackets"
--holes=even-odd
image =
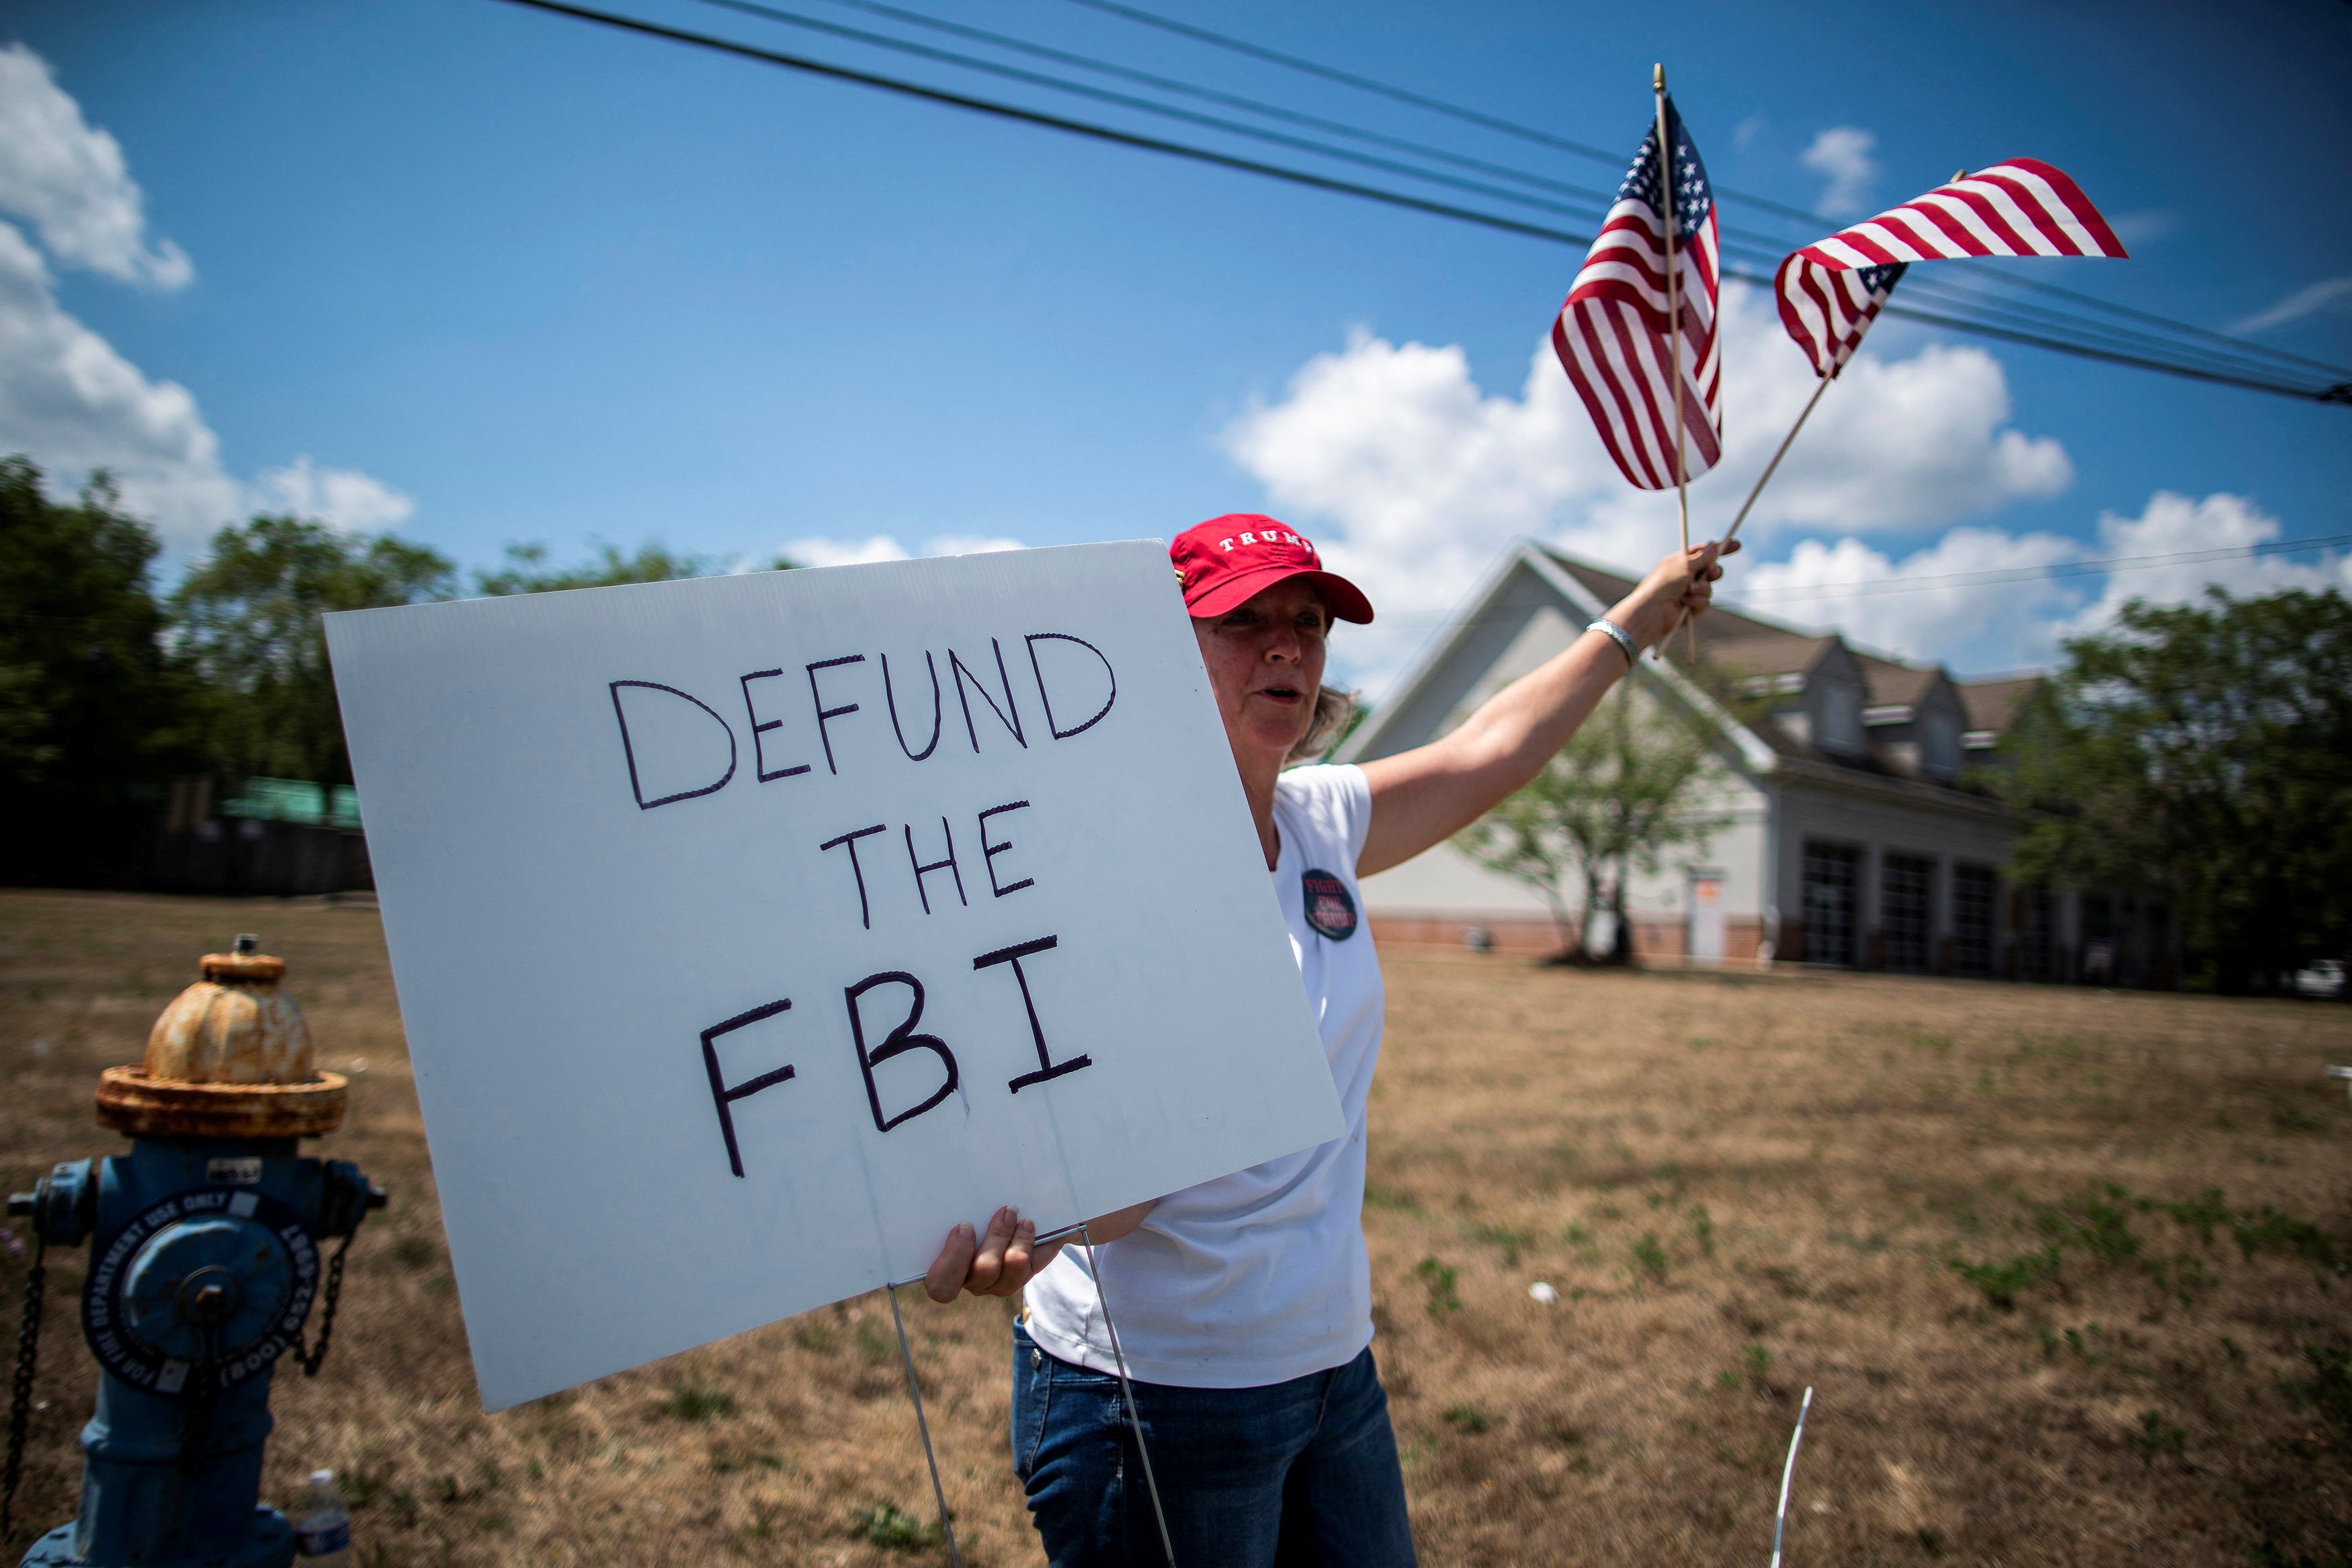
[[(2260, 341), (2352, 362), (2347, 5), (1639, 24), (1160, 5), (1625, 155), (1665, 59), (1719, 186), (1846, 197), (1816, 233), (1962, 165), (2044, 158), (2133, 259), (2016, 266), (2204, 327), (2279, 317)], [(1613, 183), (1065, 0), (915, 7)], [(1148, 125), (691, 0), (621, 9)], [(1275, 510), (1390, 611), (1343, 649), (1378, 689), (1517, 534), (1628, 567), (1672, 543), (1672, 501), (1616, 480), (1538, 357), (1573, 249), (496, 0), (85, 0), (7, 26), (80, 129), (26, 113), (19, 59), (0, 447), (66, 482), (115, 468), (179, 552), (256, 505), (395, 527), (466, 564), (590, 538), (854, 559)], [(92, 153), (106, 136), (113, 172)], [(1703, 531), (1809, 390), (1762, 299), (1726, 331), (1731, 454), (1693, 487)], [(2347, 534), (2347, 480), (2352, 409), (1889, 320), (1766, 491), (1743, 588), (1959, 672), (2037, 663), (2131, 592), (2343, 583), (2343, 555), (1943, 578)], [(1936, 583), (1886, 592), (1905, 576)]]

